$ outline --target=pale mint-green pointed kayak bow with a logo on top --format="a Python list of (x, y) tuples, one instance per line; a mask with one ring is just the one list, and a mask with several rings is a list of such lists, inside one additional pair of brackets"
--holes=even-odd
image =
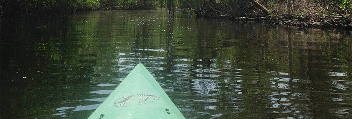
[(185, 119), (159, 83), (138, 64), (88, 119)]

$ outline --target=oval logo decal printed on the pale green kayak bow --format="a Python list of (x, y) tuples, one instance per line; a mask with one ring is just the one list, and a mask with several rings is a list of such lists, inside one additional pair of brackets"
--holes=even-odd
[(130, 95), (130, 96), (118, 98), (115, 101), (114, 105), (117, 107), (126, 107), (126, 106), (132, 106), (132, 105), (142, 105), (142, 104), (152, 103), (159, 100), (160, 100), (160, 97), (155, 95), (137, 94), (137, 95)]

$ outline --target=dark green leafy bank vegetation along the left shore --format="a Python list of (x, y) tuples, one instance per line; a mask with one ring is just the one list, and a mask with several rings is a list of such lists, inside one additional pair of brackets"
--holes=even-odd
[(119, 6), (121, 9), (155, 9), (165, 0), (2, 0), (1, 18), (17, 15), (57, 15), (76, 10)]

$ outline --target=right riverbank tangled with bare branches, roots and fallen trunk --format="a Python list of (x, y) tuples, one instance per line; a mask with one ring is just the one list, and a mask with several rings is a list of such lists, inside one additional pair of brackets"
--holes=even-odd
[[(290, 1), (290, 0), (289, 0)], [(346, 29), (351, 30), (350, 4), (340, 2), (312, 0), (280, 2), (237, 2), (238, 4), (213, 3), (196, 11), (197, 15), (216, 18), (228, 18), (242, 22), (258, 21), (271, 25), (288, 27)], [(290, 8), (289, 8), (290, 7)]]

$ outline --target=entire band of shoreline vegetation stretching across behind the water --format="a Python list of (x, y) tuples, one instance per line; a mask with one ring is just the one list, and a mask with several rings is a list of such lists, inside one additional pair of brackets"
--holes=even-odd
[(352, 27), (352, 0), (3, 0), (0, 8), (2, 27), (23, 17), (36, 20), (75, 11), (156, 8), (165, 8), (170, 15), (182, 12), (289, 27)]

